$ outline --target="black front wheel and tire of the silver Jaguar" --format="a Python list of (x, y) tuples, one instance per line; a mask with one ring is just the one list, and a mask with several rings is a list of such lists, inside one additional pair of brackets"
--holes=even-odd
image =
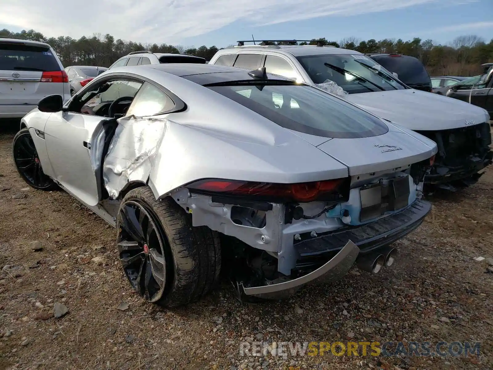
[(28, 128), (23, 128), (14, 136), (12, 157), (17, 172), (29, 186), (38, 190), (53, 190), (58, 187), (44, 174)]

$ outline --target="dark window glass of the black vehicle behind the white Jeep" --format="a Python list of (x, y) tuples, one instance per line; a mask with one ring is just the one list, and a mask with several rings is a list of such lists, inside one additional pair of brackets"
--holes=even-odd
[(430, 76), (423, 63), (410, 56), (376, 57), (375, 61), (390, 72), (395, 72), (404, 83), (430, 83)]

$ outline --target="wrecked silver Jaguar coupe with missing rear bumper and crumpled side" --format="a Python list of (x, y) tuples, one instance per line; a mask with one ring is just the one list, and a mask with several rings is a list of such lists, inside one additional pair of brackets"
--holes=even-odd
[(208, 64), (121, 67), (43, 98), (13, 142), (19, 174), (117, 229), (148, 302), (279, 298), (376, 273), (430, 211), (436, 144), (317, 87)]

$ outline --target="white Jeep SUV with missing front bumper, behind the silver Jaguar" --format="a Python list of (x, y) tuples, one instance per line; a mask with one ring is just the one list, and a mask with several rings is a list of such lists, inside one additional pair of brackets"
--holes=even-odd
[[(486, 110), (409, 88), (373, 59), (327, 45), (245, 45), (219, 50), (209, 64), (255, 69), (329, 88), (361, 108), (438, 143), (427, 191), (475, 183), (492, 163)], [(292, 40), (296, 42), (296, 40)], [(400, 76), (399, 76), (400, 77)]]

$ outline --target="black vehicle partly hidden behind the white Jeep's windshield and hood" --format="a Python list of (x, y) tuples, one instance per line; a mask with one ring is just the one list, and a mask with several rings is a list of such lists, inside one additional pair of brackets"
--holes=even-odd
[(366, 54), (409, 87), (431, 92), (431, 80), (419, 59), (403, 54)]

